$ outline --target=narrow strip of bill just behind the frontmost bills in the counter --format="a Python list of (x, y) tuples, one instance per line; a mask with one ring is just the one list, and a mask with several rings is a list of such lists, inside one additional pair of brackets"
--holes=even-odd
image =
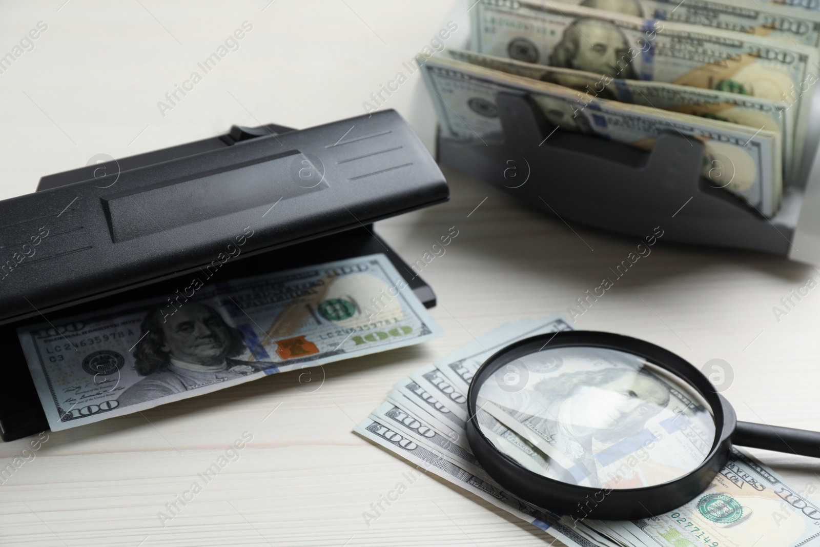
[(462, 49), (449, 49), (444, 54), (457, 61), (485, 66), (495, 71), (563, 85), (576, 89), (579, 93), (589, 93), (593, 97), (731, 121), (754, 127), (755, 130), (763, 127), (764, 130), (780, 132), (783, 175), (786, 180), (791, 180), (790, 160), (793, 155), (795, 125), (794, 109), (790, 108), (789, 103), (690, 85), (610, 78), (593, 72), (538, 65)]

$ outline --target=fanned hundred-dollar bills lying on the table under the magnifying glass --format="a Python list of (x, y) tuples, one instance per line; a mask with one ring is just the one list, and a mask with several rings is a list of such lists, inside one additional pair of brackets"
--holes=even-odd
[[(575, 519), (534, 507), (505, 492), (481, 469), (467, 443), (467, 390), (485, 359), (503, 346), (557, 330), (572, 330), (572, 326), (560, 316), (500, 326), (396, 382), (385, 403), (353, 431), (421, 472), (440, 476), (571, 547), (786, 547), (820, 542), (820, 507), (809, 498), (816, 487), (788, 485), (739, 449), (733, 449), (729, 463), (703, 495), (675, 511), (642, 520)], [(500, 424), (494, 433), (508, 439), (515, 436)], [(522, 439), (518, 441), (516, 446), (526, 446)], [(532, 458), (538, 457), (534, 451)], [(702, 510), (702, 501), (711, 499), (709, 496), (733, 499), (742, 508), (741, 517), (724, 518)]]

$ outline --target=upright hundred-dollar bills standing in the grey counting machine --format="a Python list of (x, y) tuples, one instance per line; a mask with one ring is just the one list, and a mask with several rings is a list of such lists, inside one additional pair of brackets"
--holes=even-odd
[(820, 11), (756, 0), (476, 0), (471, 51), (424, 63), (444, 138), (499, 143), (496, 96), (551, 125), (649, 150), (704, 144), (702, 173), (767, 217), (801, 184), (820, 77)]

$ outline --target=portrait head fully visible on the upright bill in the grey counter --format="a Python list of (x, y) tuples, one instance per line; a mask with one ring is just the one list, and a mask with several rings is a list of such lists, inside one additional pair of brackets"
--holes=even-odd
[(561, 41), (549, 55), (550, 66), (635, 80), (629, 41), (610, 21), (581, 18), (564, 30)]

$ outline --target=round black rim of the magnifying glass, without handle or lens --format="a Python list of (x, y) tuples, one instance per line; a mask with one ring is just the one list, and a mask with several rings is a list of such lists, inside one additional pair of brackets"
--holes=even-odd
[[(715, 438), (704, 461), (686, 475), (659, 485), (608, 490), (556, 481), (522, 467), (484, 435), (476, 418), (481, 385), (500, 367), (517, 358), (563, 347), (614, 349), (644, 358), (671, 372), (696, 390), (711, 406)], [(467, 392), (467, 440), (476, 459), (511, 494), (556, 513), (599, 519), (645, 518), (666, 513), (701, 494), (727, 463), (736, 417), (731, 404), (714, 390), (706, 376), (685, 359), (630, 336), (593, 330), (567, 330), (531, 336), (500, 349), (479, 367)], [(603, 499), (599, 500), (601, 496)], [(590, 503), (590, 499), (592, 500)], [(591, 506), (590, 506), (591, 505)]]

